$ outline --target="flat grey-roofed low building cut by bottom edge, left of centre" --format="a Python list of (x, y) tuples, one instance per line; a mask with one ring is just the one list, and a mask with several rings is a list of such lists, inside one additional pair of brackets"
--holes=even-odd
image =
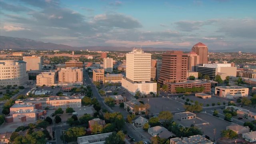
[(90, 136), (82, 136), (77, 138), (78, 144), (104, 144), (105, 139), (112, 134), (112, 132), (104, 134), (94, 134)]

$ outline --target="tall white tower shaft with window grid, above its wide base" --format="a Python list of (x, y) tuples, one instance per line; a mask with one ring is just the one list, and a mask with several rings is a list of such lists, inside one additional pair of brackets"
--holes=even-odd
[(150, 81), (151, 54), (133, 49), (126, 54), (126, 78), (131, 82)]

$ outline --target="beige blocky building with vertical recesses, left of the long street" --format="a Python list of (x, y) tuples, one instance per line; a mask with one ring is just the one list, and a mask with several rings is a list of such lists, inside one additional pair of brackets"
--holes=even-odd
[(83, 82), (83, 68), (62, 68), (59, 71), (59, 83)]

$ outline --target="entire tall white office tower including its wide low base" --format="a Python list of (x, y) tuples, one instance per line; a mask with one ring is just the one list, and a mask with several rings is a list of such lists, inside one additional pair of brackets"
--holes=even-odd
[(151, 54), (141, 48), (134, 48), (126, 54), (126, 77), (122, 78), (122, 86), (131, 94), (137, 91), (142, 94), (156, 93), (156, 83), (150, 82)]

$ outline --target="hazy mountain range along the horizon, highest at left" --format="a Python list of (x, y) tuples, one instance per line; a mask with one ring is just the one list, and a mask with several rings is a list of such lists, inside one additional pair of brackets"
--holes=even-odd
[[(83, 46), (74, 47), (64, 44), (54, 44), (51, 42), (41, 42), (27, 38), (13, 38), (8, 36), (0, 36), (0, 49), (13, 50), (102, 50), (102, 51), (128, 51), (132, 48), (118, 46)], [(242, 50), (241, 50), (242, 49)], [(156, 51), (153, 47), (143, 47), (144, 51)], [(157, 48), (157, 51), (181, 50), (189, 52), (191, 49), (186, 48)], [(210, 52), (256, 52), (256, 48), (235, 48), (230, 50), (209, 50)]]

